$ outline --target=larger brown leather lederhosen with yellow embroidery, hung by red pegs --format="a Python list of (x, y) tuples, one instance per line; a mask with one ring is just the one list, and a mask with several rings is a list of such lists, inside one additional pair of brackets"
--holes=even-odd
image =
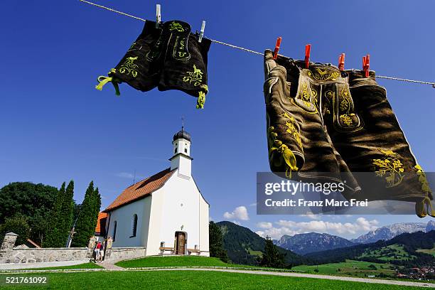
[(365, 77), (318, 63), (306, 69), (304, 61), (273, 60), (270, 50), (264, 72), (273, 172), (341, 178), (348, 181), (348, 199), (413, 201), (417, 215), (431, 214), (426, 176), (374, 72)]

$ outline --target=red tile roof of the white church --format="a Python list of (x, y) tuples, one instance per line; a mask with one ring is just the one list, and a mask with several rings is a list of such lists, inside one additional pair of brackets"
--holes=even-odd
[(163, 184), (166, 183), (168, 178), (172, 176), (174, 171), (175, 169), (171, 171), (171, 168), (167, 168), (159, 173), (154, 174), (154, 176), (150, 176), (149, 178), (145, 178), (143, 181), (134, 183), (134, 185), (129, 186), (120, 195), (118, 195), (114, 202), (105, 210), (103, 210), (103, 212), (108, 213), (115, 208), (119, 208), (122, 205), (131, 203), (139, 198), (144, 198), (146, 195), (158, 190), (163, 186)]

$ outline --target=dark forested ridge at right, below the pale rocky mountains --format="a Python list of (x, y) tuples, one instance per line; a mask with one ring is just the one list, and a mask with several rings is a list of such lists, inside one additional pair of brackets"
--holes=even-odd
[(305, 257), (317, 264), (344, 262), (356, 259), (366, 262), (402, 265), (405, 267), (421, 267), (434, 265), (435, 257), (426, 251), (434, 247), (435, 231), (404, 233), (391, 240), (379, 240), (369, 244), (360, 244), (341, 249), (330, 249), (313, 252)]

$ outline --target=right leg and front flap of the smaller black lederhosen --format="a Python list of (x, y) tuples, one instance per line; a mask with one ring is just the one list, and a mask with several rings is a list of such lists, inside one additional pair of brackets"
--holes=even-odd
[(207, 85), (207, 55), (211, 41), (190, 33), (190, 25), (182, 21), (168, 21), (163, 25), (168, 33), (164, 53), (163, 70), (159, 90), (182, 90), (198, 97), (198, 108), (202, 108)]

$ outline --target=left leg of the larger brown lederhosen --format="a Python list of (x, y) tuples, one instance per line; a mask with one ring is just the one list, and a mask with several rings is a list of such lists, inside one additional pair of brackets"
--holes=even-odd
[[(329, 83), (316, 80), (311, 70), (300, 68), (294, 60), (281, 56), (273, 60), (270, 50), (264, 54), (264, 73), (272, 172), (296, 180), (347, 180), (351, 194), (360, 190), (323, 124), (320, 94)], [(297, 171), (296, 176), (291, 171)]]

